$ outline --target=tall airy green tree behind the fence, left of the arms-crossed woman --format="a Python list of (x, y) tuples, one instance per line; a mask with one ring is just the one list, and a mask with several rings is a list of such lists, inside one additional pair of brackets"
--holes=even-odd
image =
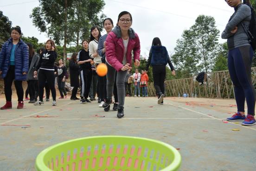
[(218, 36), (214, 18), (205, 15), (199, 15), (196, 23), (183, 32), (182, 38), (177, 40), (172, 56), (179, 74), (183, 74), (182, 77), (213, 69), (218, 52)]

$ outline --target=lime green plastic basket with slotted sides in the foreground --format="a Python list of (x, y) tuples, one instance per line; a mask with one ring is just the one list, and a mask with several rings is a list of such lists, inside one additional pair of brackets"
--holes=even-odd
[(37, 171), (178, 171), (179, 152), (161, 141), (126, 136), (73, 139), (38, 154)]

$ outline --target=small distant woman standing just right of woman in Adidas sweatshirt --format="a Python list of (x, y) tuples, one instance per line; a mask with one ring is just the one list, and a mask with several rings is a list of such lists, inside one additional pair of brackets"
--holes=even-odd
[(57, 82), (58, 82), (58, 89), (60, 97), (59, 99), (66, 99), (67, 92), (65, 90), (65, 80), (66, 80), (66, 73), (67, 68), (64, 66), (63, 59), (59, 59), (58, 61), (59, 66), (57, 66)]

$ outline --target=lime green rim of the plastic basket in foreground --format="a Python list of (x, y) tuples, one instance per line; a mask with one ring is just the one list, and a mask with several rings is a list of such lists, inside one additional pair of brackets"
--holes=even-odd
[(179, 166), (181, 165), (181, 155), (180, 155), (179, 151), (176, 148), (174, 148), (173, 146), (171, 146), (165, 142), (155, 140), (155, 139), (148, 139), (148, 138), (134, 137), (134, 136), (103, 135), (103, 136), (90, 136), (90, 137), (83, 137), (83, 138), (77, 138), (77, 139), (70, 139), (70, 140), (60, 142), (58, 144), (55, 144), (53, 146), (49, 146), (49, 147), (45, 148), (43, 151), (41, 151), (38, 154), (38, 156), (36, 158), (35, 167), (36, 167), (37, 171), (52, 171), (44, 164), (44, 156), (47, 152), (51, 151), (53, 148), (73, 142), (73, 141), (80, 141), (80, 140), (84, 140), (84, 139), (95, 139), (95, 138), (128, 138), (128, 139), (141, 139), (141, 140), (155, 142), (155, 143), (158, 143), (162, 146), (166, 146), (167, 148), (169, 148), (171, 151), (173, 151), (173, 154), (175, 156), (173, 162), (160, 171), (170, 171), (170, 169), (177, 170), (179, 168)]

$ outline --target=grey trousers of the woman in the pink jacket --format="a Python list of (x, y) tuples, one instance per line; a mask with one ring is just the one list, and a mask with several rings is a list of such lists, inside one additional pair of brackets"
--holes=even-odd
[[(107, 99), (112, 99), (114, 83), (115, 83), (115, 68), (106, 63), (108, 67), (107, 73)], [(118, 96), (118, 107), (123, 107), (125, 98), (124, 80), (127, 74), (126, 71), (118, 71), (116, 76), (116, 87)]]

